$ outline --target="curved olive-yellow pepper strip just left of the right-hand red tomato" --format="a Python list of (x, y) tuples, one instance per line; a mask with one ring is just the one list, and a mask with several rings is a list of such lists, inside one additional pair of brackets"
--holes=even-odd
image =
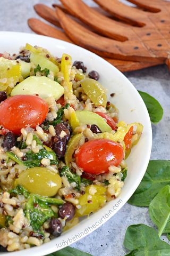
[(79, 141), (81, 140), (81, 138), (82, 138), (82, 133), (78, 133), (78, 134), (75, 134), (69, 141), (68, 147), (65, 153), (65, 157), (64, 157), (66, 165), (69, 166), (70, 163), (72, 162), (72, 155), (75, 149), (78, 148)]

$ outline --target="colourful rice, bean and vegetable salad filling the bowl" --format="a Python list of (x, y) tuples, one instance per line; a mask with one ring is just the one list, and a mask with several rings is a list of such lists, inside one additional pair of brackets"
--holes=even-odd
[(0, 245), (58, 237), (114, 200), (142, 134), (107, 101), (96, 70), (26, 44), (0, 57)]

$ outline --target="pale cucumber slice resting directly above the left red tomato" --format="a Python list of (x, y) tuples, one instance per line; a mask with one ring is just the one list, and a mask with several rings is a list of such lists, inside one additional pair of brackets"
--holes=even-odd
[(54, 97), (59, 99), (64, 94), (64, 88), (46, 76), (30, 76), (14, 87), (11, 96), (19, 94), (38, 94), (40, 98)]

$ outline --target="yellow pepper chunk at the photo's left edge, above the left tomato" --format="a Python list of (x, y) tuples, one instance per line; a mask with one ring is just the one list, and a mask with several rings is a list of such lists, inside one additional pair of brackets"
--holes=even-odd
[[(4, 78), (4, 79), (3, 79)], [(16, 60), (0, 58), (0, 90), (4, 91), (8, 85), (16, 84), (21, 78), (21, 64)]]

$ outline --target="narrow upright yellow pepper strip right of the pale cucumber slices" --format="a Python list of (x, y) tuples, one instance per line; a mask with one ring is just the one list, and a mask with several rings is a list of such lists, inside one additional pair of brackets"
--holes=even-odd
[(67, 83), (67, 88), (72, 92), (72, 83), (70, 82), (70, 68), (71, 68), (71, 56), (69, 54), (63, 53), (61, 61), (61, 71), (64, 76), (64, 80)]

